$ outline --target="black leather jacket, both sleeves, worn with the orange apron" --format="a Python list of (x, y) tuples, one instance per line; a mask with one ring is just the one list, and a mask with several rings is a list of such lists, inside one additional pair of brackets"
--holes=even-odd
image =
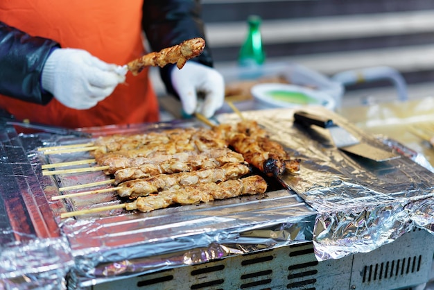
[[(142, 26), (153, 51), (193, 37), (205, 38), (198, 0), (145, 0)], [(40, 79), (53, 47), (60, 47), (60, 44), (32, 37), (0, 22), (0, 94), (32, 103), (48, 103), (53, 96), (43, 92)], [(194, 60), (212, 66), (207, 47)], [(175, 94), (169, 78), (171, 69), (173, 65), (161, 69), (161, 76), (168, 92)]]

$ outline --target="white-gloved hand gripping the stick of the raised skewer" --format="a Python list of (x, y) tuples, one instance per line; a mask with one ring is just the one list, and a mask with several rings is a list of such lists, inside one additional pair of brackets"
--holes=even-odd
[(55, 49), (42, 69), (42, 88), (63, 105), (84, 110), (112, 94), (126, 72), (82, 49)]

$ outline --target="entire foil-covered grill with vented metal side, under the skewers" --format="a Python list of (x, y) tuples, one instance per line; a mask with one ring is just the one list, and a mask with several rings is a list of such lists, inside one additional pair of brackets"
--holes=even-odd
[[(0, 214), (6, 216), (0, 219), (0, 288), (22, 283), (44, 289), (395, 289), (426, 282), (434, 245), (432, 173), (406, 157), (381, 166), (356, 162), (330, 144), (320, 146), (327, 140), (320, 132), (315, 138), (300, 134), (291, 114), (245, 114), (261, 119), (288, 150), (300, 148), (290, 155), (304, 158), (302, 173), (274, 180), (263, 198), (76, 219), (60, 219), (60, 213), (92, 207), (96, 199), (120, 201), (114, 194), (51, 201), (60, 185), (104, 176), (42, 176), (41, 163), (73, 161), (77, 155), (44, 159), (35, 148), (83, 139), (17, 135), (6, 126), (0, 132)], [(339, 125), (358, 133), (345, 122)], [(358, 172), (358, 183), (352, 172)]]

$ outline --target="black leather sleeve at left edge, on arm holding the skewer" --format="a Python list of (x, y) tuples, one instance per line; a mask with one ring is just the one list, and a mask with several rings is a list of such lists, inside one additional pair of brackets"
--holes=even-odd
[(0, 22), (0, 94), (42, 105), (53, 96), (40, 85), (42, 68), (57, 42), (32, 37)]

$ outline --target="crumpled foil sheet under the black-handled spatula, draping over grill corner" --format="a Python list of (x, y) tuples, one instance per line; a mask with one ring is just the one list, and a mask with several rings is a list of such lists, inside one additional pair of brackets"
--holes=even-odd
[[(343, 153), (333, 146), (327, 130), (293, 124), (291, 109), (243, 112), (302, 160), (300, 172), (283, 176), (282, 182), (318, 212), (313, 245), (319, 261), (367, 253), (414, 227), (433, 232), (434, 175), (424, 158), (420, 162), (418, 154), (382, 142), (324, 108), (304, 110), (332, 118), (362, 142), (402, 154), (374, 162)], [(236, 122), (240, 117), (225, 114), (218, 120)]]

